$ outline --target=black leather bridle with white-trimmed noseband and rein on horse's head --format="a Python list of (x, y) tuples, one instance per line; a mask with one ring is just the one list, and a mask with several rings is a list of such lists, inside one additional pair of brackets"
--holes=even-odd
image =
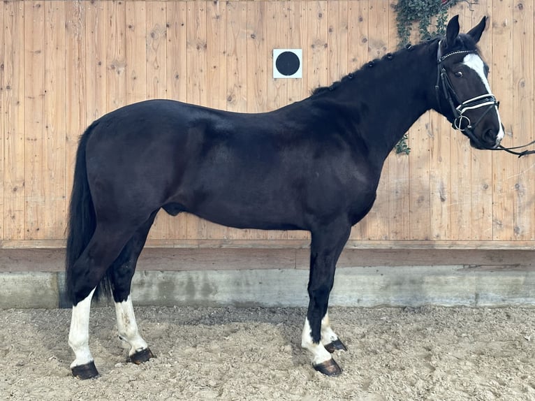
[[(477, 54), (477, 52), (474, 50), (457, 50), (455, 52), (450, 52), (450, 53), (442, 55), (441, 41), (439, 41), (439, 49), (437, 50), (437, 70), (438, 70), (437, 83), (434, 86), (435, 94), (437, 95), (437, 103), (439, 105), (439, 108), (441, 108), (440, 92), (442, 89), (444, 97), (448, 101), (451, 111), (453, 112), (453, 117), (455, 117), (455, 119), (453, 120), (453, 123), (451, 124), (453, 126), (453, 129), (464, 133), (464, 135), (466, 135), (474, 143), (476, 143), (478, 147), (481, 147), (482, 149), (485, 149), (485, 150), (504, 150), (505, 152), (516, 154), (518, 155), (518, 157), (525, 156), (526, 154), (535, 153), (535, 150), (523, 150), (522, 152), (513, 151), (513, 149), (520, 149), (522, 147), (532, 145), (533, 143), (535, 143), (535, 140), (522, 146), (504, 147), (502, 145), (498, 145), (498, 147), (488, 147), (487, 145), (483, 144), (481, 140), (479, 140), (479, 138), (477, 138), (474, 135), (474, 128), (481, 122), (483, 117), (485, 117), (485, 115), (487, 115), (487, 113), (490, 112), (494, 107), (499, 108), (499, 101), (497, 101), (496, 97), (494, 97), (494, 95), (491, 93), (475, 96), (471, 99), (468, 99), (467, 101), (460, 101), (459, 96), (457, 96), (457, 93), (455, 92), (455, 88), (453, 87), (451, 80), (448, 77), (446, 68), (444, 67), (444, 60), (447, 59), (448, 57), (453, 56), (454, 54), (470, 54), (470, 53)], [(467, 110), (474, 110), (477, 108), (485, 108), (485, 111), (483, 112), (481, 117), (479, 117), (479, 119), (474, 124), (472, 124), (469, 117), (464, 115), (464, 112), (466, 112)]]

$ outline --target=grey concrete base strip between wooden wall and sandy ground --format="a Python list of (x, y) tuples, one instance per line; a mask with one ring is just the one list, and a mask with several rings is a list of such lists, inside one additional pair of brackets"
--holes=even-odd
[[(141, 270), (135, 305), (258, 305), (306, 307), (305, 269)], [(68, 307), (63, 272), (0, 272), (0, 308)], [(467, 265), (343, 267), (332, 306), (535, 305), (535, 271)]]

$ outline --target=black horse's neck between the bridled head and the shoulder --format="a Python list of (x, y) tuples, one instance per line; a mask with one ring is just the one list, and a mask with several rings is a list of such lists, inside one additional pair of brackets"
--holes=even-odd
[(332, 91), (339, 90), (335, 96), (348, 107), (349, 118), (355, 119), (358, 139), (383, 159), (414, 122), (434, 107), (435, 57), (434, 43), (401, 50), (392, 59), (363, 67), (351, 83)]

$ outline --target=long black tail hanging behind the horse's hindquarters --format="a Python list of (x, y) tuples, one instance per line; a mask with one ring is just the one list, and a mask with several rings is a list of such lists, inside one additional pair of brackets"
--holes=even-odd
[[(98, 122), (91, 124), (80, 137), (78, 150), (76, 152), (73, 191), (71, 193), (71, 203), (68, 212), (67, 241), (66, 241), (66, 258), (65, 258), (65, 288), (67, 299), (70, 302), (76, 302), (74, 288), (76, 280), (80, 277), (75, 276), (74, 264), (80, 258), (80, 255), (89, 244), (96, 228), (96, 214), (87, 180), (86, 166), (86, 147), (87, 140), (91, 136)], [(111, 296), (110, 277), (105, 275), (101, 283), (97, 286), (94, 298), (105, 295)]]

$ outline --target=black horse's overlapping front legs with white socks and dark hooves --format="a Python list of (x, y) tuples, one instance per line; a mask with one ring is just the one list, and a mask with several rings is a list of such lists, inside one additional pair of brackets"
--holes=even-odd
[(309, 307), (301, 345), (312, 352), (312, 365), (328, 376), (342, 373), (331, 353), (346, 350), (330, 328), (328, 315), (329, 295), (335, 279), (336, 263), (347, 239), (349, 224), (332, 224), (312, 232), (309, 277)]

